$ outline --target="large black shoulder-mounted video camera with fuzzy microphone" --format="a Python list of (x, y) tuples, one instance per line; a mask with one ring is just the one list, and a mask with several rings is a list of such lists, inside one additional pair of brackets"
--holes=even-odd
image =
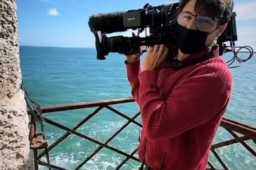
[[(141, 46), (154, 46), (164, 44), (171, 48), (176, 45), (175, 29), (179, 3), (165, 3), (160, 6), (151, 6), (148, 3), (143, 9), (129, 10), (127, 12), (113, 12), (92, 15), (89, 26), (96, 39), (97, 59), (104, 60), (110, 52), (119, 54), (135, 54), (141, 52)], [(140, 37), (143, 31), (149, 36)], [(138, 30), (138, 35), (132, 37), (113, 36), (106, 34), (123, 32), (127, 29)], [(233, 12), (228, 26), (218, 38), (220, 55), (227, 51), (224, 42), (237, 41), (236, 13)]]

